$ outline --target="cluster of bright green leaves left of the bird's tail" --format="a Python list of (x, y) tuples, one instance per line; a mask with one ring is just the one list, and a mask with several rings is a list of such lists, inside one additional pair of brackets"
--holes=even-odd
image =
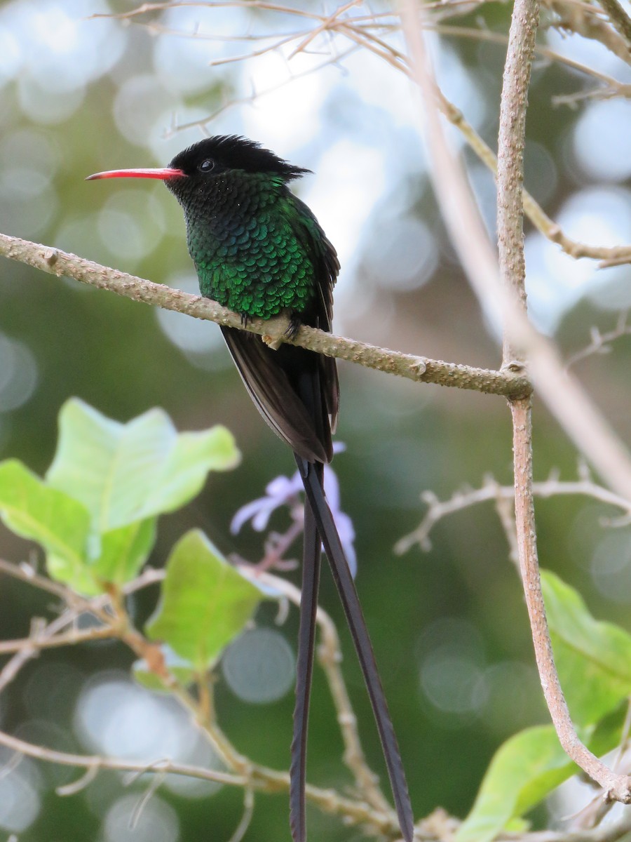
[[(152, 409), (120, 424), (72, 398), (61, 408), (55, 458), (44, 478), (20, 461), (0, 463), (0, 516), (45, 551), (50, 578), (77, 594), (117, 594), (140, 573), (160, 514), (194, 498), (210, 471), (241, 460), (223, 426), (178, 433)], [(264, 594), (199, 530), (172, 548), (162, 599), (146, 626), (167, 665), (188, 684), (216, 662)], [(160, 686), (139, 666), (146, 683)]]

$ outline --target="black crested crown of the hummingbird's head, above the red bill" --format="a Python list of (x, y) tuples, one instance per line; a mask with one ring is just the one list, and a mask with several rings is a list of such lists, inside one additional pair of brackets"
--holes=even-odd
[(181, 169), (188, 177), (218, 175), (226, 170), (270, 173), (285, 182), (299, 179), (310, 170), (294, 167), (256, 141), (236, 135), (215, 135), (194, 143), (173, 158), (169, 167)]

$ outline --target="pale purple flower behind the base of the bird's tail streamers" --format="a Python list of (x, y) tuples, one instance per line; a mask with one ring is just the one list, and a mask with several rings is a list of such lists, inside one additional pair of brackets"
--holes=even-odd
[[(343, 449), (343, 445), (336, 443), (334, 446), (335, 452)], [(351, 569), (354, 577), (355, 573), (357, 573), (357, 556), (353, 544), (355, 530), (353, 529), (353, 521), (340, 509), (340, 485), (330, 465), (324, 466), (324, 490), (333, 520), (337, 526), (340, 541), (342, 541), (348, 567)], [(238, 509), (230, 525), (232, 534), (236, 535), (241, 530), (241, 526), (247, 523), (248, 520), (252, 521), (253, 530), (262, 532), (267, 529), (269, 519), (276, 509), (287, 506), (291, 512), (295, 510), (298, 504), (302, 506), (302, 498), (300, 497), (302, 493), (304, 493), (304, 488), (299, 472), (296, 471), (291, 478), (275, 477), (265, 487), (264, 497), (252, 500), (252, 503), (247, 503), (245, 506), (241, 506), (241, 509)]]

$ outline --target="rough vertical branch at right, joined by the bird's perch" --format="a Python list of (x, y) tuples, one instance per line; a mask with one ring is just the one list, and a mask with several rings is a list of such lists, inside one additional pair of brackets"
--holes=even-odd
[[(538, 26), (538, 0), (515, 0), (504, 68), (497, 163), (497, 237), (501, 280), (526, 309), (523, 253), (523, 147), (528, 84)], [(505, 332), (504, 365), (519, 360), (522, 349)], [(575, 763), (606, 790), (607, 798), (631, 802), (631, 778), (615, 775), (581, 743), (554, 666), (538, 567), (533, 498), (531, 397), (512, 400), (515, 517), (519, 567), (533, 632), (541, 685), (559, 742)]]

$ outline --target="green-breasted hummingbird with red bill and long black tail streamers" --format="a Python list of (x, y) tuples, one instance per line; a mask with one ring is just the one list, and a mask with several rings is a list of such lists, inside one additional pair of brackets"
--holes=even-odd
[[(331, 332), (337, 253), (310, 208), (289, 189), (309, 173), (240, 136), (213, 136), (179, 152), (166, 168), (118, 169), (91, 179), (162, 179), (183, 208), (188, 253), (202, 296), (241, 315), (289, 317)], [(289, 770), (289, 824), (305, 842), (307, 724), (315, 651), (321, 546), (342, 600), (374, 711), (401, 833), (414, 836), (406, 775), (353, 576), (326, 503), (323, 467), (339, 405), (336, 362), (300, 346), (278, 349), (262, 337), (221, 326), (247, 392), (262, 417), (294, 451), (305, 486), (302, 593), (296, 663), (294, 731)]]

